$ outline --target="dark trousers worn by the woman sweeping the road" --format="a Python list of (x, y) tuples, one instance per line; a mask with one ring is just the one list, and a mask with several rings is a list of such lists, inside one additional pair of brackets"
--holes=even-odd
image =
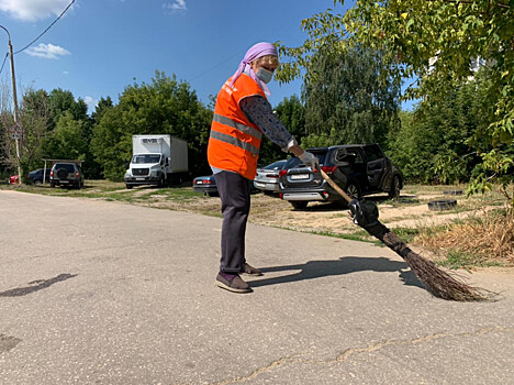
[(222, 201), (222, 252), (220, 270), (238, 273), (245, 264), (246, 221), (250, 208), (249, 180), (236, 173), (214, 174)]

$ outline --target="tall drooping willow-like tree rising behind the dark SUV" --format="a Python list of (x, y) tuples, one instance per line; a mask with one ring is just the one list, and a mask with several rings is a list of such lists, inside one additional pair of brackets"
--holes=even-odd
[(386, 145), (389, 131), (400, 127), (400, 82), (380, 79), (384, 65), (371, 50), (342, 50), (339, 42), (320, 47), (302, 90), (311, 140), (325, 134), (332, 144)]

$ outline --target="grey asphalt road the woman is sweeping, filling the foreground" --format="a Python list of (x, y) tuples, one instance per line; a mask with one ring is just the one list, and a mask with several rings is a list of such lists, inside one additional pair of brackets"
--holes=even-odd
[(0, 384), (514, 384), (512, 274), (432, 297), (387, 248), (248, 226), (254, 293), (214, 285), (221, 219), (0, 191)]

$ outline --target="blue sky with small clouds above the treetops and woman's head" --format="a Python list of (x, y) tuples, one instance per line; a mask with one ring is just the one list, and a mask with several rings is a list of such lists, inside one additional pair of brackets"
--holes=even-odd
[[(0, 0), (0, 24), (9, 30), (14, 52), (70, 2)], [(19, 94), (27, 87), (63, 88), (87, 101), (91, 112), (101, 97), (118, 102), (134, 79), (150, 81), (161, 70), (188, 81), (208, 103), (249, 46), (261, 41), (298, 46), (306, 37), (302, 19), (328, 8), (332, 0), (76, 0), (36, 43), (14, 55)], [(0, 33), (3, 61), (8, 36)], [(0, 77), (10, 85), (8, 64)], [(300, 95), (300, 80), (272, 81), (270, 102)]]

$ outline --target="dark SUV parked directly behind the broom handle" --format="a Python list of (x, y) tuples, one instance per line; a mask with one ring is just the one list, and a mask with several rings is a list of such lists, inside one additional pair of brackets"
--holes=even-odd
[[(360, 198), (388, 193), (398, 198), (403, 188), (402, 172), (383, 154), (378, 144), (334, 145), (310, 148), (320, 160), (320, 167), (350, 197)], [(291, 157), (280, 172), (280, 197), (295, 209), (310, 201), (345, 202), (320, 173), (312, 172), (300, 158)]]

